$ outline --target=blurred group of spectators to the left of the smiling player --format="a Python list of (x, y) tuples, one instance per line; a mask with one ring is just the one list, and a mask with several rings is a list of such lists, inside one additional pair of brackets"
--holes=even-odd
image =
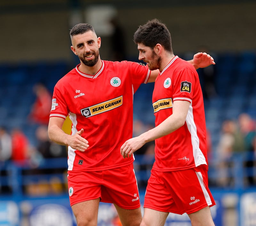
[[(30, 195), (46, 195), (60, 193), (66, 183), (63, 183), (55, 173), (62, 173), (66, 177), (66, 166), (62, 169), (40, 169), (39, 166), (52, 158), (67, 158), (67, 147), (52, 142), (48, 137), (49, 113), (52, 106), (52, 94), (44, 86), (38, 83), (33, 87), (36, 100), (28, 115), (28, 124), (33, 124), (35, 129), (36, 144), (25, 135), (21, 128), (6, 128), (0, 125), (0, 166), (6, 162), (12, 162), (22, 169), (22, 175), (31, 175), (31, 182), (23, 188), (23, 192)], [(1, 170), (1, 168), (0, 168)], [(7, 173), (0, 171), (1, 174)], [(50, 174), (49, 180), (40, 179), (37, 175)], [(52, 175), (52, 177), (51, 177)], [(10, 176), (10, 175), (9, 175)], [(37, 178), (36, 178), (37, 177)], [(34, 178), (34, 179), (32, 179)], [(35, 179), (36, 178), (36, 179)], [(9, 186), (1, 186), (0, 191), (8, 191)]]

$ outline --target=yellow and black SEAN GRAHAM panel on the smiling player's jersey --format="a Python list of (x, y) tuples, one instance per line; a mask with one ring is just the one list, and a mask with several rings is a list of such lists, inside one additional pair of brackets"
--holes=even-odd
[(106, 111), (110, 111), (112, 109), (118, 108), (123, 104), (123, 96), (119, 96), (116, 97), (114, 99), (99, 103), (99, 104), (95, 104), (91, 107), (87, 107), (84, 109), (81, 109), (81, 114), (84, 117), (91, 117), (94, 115), (98, 115), (100, 113), (106, 112)]

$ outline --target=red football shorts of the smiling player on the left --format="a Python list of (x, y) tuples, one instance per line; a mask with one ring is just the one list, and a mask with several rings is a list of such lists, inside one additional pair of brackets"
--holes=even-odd
[(100, 198), (124, 209), (140, 207), (133, 164), (96, 172), (68, 171), (70, 205)]

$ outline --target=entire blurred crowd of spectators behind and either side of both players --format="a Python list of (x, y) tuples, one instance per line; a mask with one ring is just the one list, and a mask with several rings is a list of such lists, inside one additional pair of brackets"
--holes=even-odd
[[(48, 180), (38, 177), (35, 182), (27, 183), (23, 191), (30, 195), (42, 195), (51, 193), (61, 193), (66, 188), (66, 179), (60, 179), (55, 174), (63, 174), (66, 178), (66, 166), (61, 169), (40, 168), (42, 162), (49, 159), (67, 158), (67, 147), (53, 143), (48, 137), (49, 112), (52, 106), (52, 94), (43, 84), (36, 84), (33, 87), (36, 100), (31, 106), (28, 115), (29, 124), (36, 125), (35, 137), (36, 145), (32, 145), (28, 137), (21, 128), (5, 128), (0, 125), (0, 167), (6, 162), (12, 162), (17, 167), (21, 167), (23, 175), (37, 176), (50, 175)], [(210, 94), (208, 95), (209, 98)], [(134, 119), (133, 136), (153, 128), (153, 124), (145, 124), (139, 119)], [(208, 160), (209, 169), (215, 173), (215, 178), (209, 176), (210, 185), (217, 187), (234, 186), (236, 157), (242, 158), (245, 172), (244, 185), (256, 185), (256, 121), (247, 113), (242, 113), (236, 119), (223, 121), (220, 139), (216, 149), (212, 148), (211, 133), (207, 131)], [(155, 142), (151, 141), (134, 153), (134, 169), (137, 174), (138, 185), (145, 188), (147, 178), (154, 162)], [(240, 161), (241, 162), (241, 161)], [(140, 177), (140, 174), (144, 174)], [(52, 175), (52, 176), (51, 176)], [(3, 170), (0, 168), (0, 176)], [(9, 188), (1, 185), (0, 191)], [(6, 192), (6, 191), (4, 191)]]

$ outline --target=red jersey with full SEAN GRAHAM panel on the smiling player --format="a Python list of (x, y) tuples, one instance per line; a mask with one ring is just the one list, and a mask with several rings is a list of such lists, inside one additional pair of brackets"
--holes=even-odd
[(133, 94), (150, 76), (148, 66), (134, 62), (102, 61), (95, 75), (78, 66), (54, 87), (50, 117), (69, 118), (71, 134), (84, 129), (90, 147), (80, 152), (68, 147), (68, 170), (97, 171), (128, 165), (120, 147), (132, 138)]

